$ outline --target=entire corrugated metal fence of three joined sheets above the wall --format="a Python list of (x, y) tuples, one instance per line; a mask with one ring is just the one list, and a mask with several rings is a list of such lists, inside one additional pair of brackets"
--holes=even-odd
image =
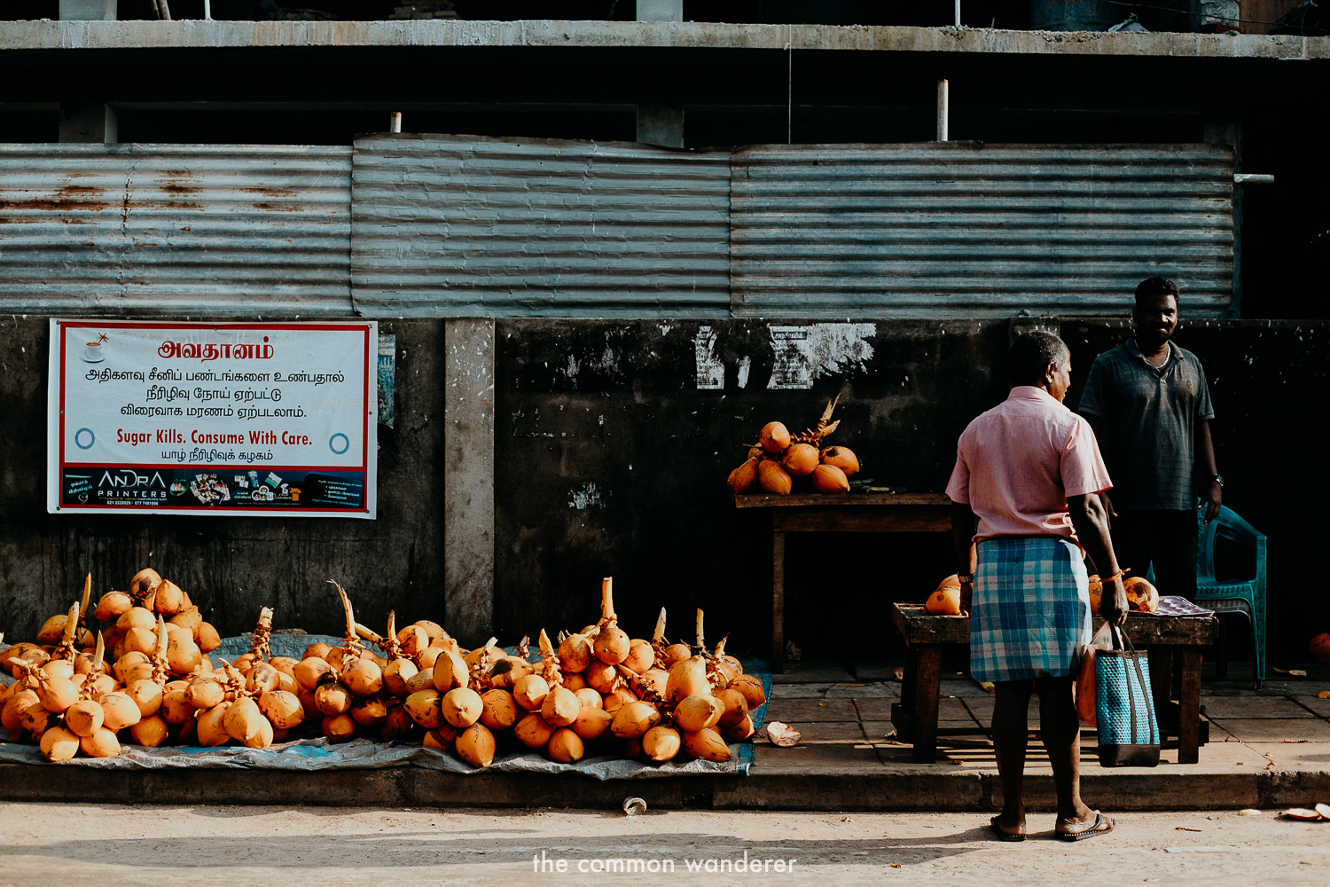
[(1232, 302), (1229, 149), (0, 145), (11, 313), (1103, 315), (1153, 274)]

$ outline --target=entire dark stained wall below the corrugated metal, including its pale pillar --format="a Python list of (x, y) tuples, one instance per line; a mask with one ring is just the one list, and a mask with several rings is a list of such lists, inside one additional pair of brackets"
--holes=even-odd
[[(279, 626), (336, 632), (325, 580), (338, 578), (362, 621), (396, 608), (468, 641), (492, 626), (513, 642), (592, 621), (598, 580), (613, 574), (629, 632), (668, 605), (682, 634), (700, 605), (713, 640), (729, 632), (733, 648), (762, 653), (766, 528), (735, 513), (722, 484), (743, 444), (773, 419), (811, 424), (841, 394), (833, 442), (859, 453), (864, 475), (939, 491), (959, 432), (1004, 396), (1009, 336), (1049, 323), (1073, 348), (1075, 403), (1120, 322), (380, 322), (399, 351), (396, 428), (379, 430), (380, 516), (340, 521), (47, 515), (47, 322), (7, 319), (0, 630), (31, 636), (86, 569), (105, 589), (152, 564), (223, 633), (263, 604)], [(1209, 372), (1226, 500), (1271, 540), (1271, 662), (1298, 660), (1330, 628), (1325, 596), (1293, 582), (1295, 553), (1321, 536), (1299, 455), (1330, 324), (1197, 322), (1178, 342)], [(823, 654), (894, 650), (890, 601), (922, 600), (951, 572), (948, 551), (943, 535), (791, 540), (787, 636)]]

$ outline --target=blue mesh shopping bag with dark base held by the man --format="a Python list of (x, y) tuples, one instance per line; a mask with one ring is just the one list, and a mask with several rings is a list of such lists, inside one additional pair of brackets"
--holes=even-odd
[(1113, 628), (1113, 646), (1095, 654), (1095, 707), (1099, 763), (1153, 767), (1160, 762), (1160, 730), (1150, 697), (1150, 664)]

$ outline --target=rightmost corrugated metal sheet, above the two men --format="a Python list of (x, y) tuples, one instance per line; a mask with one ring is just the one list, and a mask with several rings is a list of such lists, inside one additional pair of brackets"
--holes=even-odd
[(1214, 145), (777, 145), (734, 152), (741, 315), (1123, 314), (1170, 277), (1233, 293), (1233, 153)]

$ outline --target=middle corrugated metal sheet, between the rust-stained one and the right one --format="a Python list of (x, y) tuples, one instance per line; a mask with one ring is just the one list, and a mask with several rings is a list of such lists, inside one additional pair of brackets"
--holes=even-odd
[(728, 317), (730, 156), (454, 136), (355, 142), (367, 315)]

